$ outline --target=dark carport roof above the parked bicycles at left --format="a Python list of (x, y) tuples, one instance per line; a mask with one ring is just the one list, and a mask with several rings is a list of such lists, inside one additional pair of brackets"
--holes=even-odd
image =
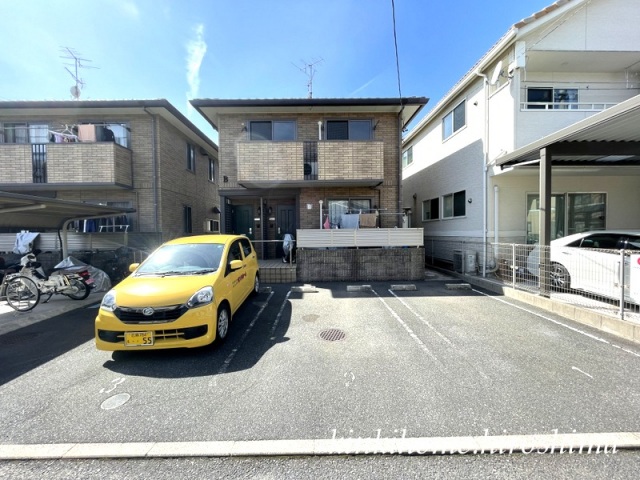
[(111, 217), (132, 212), (135, 212), (135, 209), (0, 191), (0, 227), (25, 230), (60, 229), (66, 221)]

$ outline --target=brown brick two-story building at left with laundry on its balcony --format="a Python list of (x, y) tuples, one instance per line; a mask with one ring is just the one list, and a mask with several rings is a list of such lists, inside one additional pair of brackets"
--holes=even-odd
[(217, 157), (166, 100), (0, 102), (0, 191), (135, 210), (77, 222), (80, 233), (153, 247), (218, 231)]

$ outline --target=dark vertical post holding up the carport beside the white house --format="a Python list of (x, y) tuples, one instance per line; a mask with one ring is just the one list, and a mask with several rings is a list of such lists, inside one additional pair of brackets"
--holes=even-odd
[(540, 295), (549, 297), (550, 268), (549, 243), (551, 242), (551, 152), (540, 149)]

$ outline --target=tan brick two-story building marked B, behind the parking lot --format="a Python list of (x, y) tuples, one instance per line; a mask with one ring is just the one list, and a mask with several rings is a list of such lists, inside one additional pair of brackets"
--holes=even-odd
[(401, 134), (426, 98), (191, 103), (219, 132), (225, 232), (279, 249), (296, 229), (353, 228), (355, 213), (402, 225)]

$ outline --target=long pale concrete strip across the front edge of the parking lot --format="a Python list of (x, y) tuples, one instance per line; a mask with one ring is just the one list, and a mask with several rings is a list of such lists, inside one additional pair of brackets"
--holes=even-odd
[(0, 445), (0, 460), (332, 455), (611, 455), (640, 449), (640, 432), (418, 438)]

